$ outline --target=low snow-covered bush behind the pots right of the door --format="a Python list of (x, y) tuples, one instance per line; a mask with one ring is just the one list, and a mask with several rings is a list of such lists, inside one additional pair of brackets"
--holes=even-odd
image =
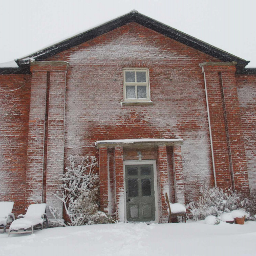
[(231, 189), (223, 190), (218, 187), (204, 185), (200, 187), (198, 201), (190, 202), (186, 208), (190, 212), (189, 218), (198, 221), (209, 215), (219, 216), (223, 212), (236, 210), (241, 206), (241, 196)]

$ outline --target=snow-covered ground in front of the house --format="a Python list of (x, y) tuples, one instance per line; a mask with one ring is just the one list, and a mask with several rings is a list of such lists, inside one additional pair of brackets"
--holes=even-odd
[(256, 255), (256, 222), (118, 223), (3, 234), (0, 255)]

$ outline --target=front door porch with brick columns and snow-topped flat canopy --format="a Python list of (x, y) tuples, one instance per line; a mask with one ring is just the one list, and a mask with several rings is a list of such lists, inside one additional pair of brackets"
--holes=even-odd
[[(116, 214), (120, 222), (125, 222), (125, 180), (124, 180), (124, 149), (130, 150), (150, 150), (154, 148), (157, 161), (157, 184), (159, 197), (156, 202), (159, 204), (159, 210), (156, 216), (159, 216), (160, 223), (167, 222), (167, 204), (165, 201), (165, 192), (168, 190), (168, 157), (167, 147), (173, 147), (172, 150), (172, 168), (175, 184), (175, 201), (184, 203), (184, 183), (182, 174), (182, 154), (181, 144), (183, 139), (123, 139), (123, 140), (99, 140), (95, 145), (99, 149), (99, 177), (100, 177), (100, 208), (108, 214)], [(108, 148), (114, 148), (108, 151)], [(138, 153), (138, 152), (137, 152)], [(113, 154), (113, 155), (111, 155)], [(142, 153), (143, 154), (143, 153)], [(136, 158), (139, 156), (136, 156)], [(145, 159), (146, 160), (146, 159)], [(112, 172), (114, 170), (114, 172)], [(115, 184), (115, 185), (111, 185)], [(112, 190), (111, 190), (112, 189)], [(166, 190), (167, 189), (167, 190)], [(114, 198), (114, 199), (113, 199)], [(127, 209), (127, 207), (126, 207)], [(157, 209), (157, 208), (156, 208)]]

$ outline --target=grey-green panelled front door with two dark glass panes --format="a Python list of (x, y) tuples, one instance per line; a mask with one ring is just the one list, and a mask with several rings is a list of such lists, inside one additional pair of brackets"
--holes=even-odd
[(153, 164), (125, 165), (127, 221), (156, 219)]

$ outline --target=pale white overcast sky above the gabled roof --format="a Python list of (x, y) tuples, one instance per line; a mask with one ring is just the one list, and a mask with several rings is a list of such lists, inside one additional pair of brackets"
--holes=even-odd
[(256, 0), (0, 0), (0, 63), (133, 9), (256, 67)]

